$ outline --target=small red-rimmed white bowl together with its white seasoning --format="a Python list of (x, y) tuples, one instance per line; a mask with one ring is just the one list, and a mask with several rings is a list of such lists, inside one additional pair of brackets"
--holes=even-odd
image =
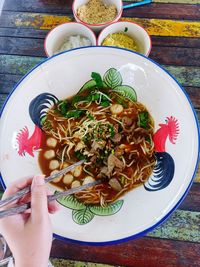
[(51, 57), (63, 51), (96, 44), (96, 36), (90, 28), (81, 23), (67, 22), (47, 34), (44, 50), (47, 57)]

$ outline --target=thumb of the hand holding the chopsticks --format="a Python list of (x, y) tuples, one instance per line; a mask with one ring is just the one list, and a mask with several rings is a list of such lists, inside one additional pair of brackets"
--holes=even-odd
[(48, 214), (44, 176), (34, 176), (31, 185), (31, 218), (41, 222)]

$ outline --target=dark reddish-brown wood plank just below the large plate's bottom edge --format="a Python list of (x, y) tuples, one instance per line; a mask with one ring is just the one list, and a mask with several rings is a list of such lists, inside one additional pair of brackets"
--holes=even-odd
[(51, 256), (127, 267), (197, 267), (200, 244), (143, 237), (102, 249), (55, 240)]

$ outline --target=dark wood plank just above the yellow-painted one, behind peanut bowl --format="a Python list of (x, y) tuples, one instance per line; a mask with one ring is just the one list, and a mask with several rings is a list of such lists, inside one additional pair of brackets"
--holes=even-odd
[[(13, 3), (14, 2), (14, 3)], [(54, 13), (54, 14), (71, 14), (73, 1), (49, 1), (49, 0), (6, 0), (3, 10), (14, 12), (36, 12), (36, 13)], [(124, 5), (128, 2), (124, 1)], [(160, 5), (152, 3), (151, 5), (144, 5), (137, 8), (125, 9), (124, 17), (146, 17), (148, 18), (173, 18), (173, 19), (193, 19), (200, 18), (199, 8), (196, 5), (187, 4), (165, 4)]]

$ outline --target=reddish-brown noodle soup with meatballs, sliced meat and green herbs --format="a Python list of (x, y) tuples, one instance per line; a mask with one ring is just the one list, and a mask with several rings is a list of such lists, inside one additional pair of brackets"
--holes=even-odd
[(86, 89), (59, 101), (48, 110), (43, 131), (39, 164), (45, 175), (85, 160), (53, 185), (66, 190), (103, 181), (75, 194), (83, 203), (105, 206), (145, 183), (153, 171), (153, 119), (143, 104), (112, 89)]

